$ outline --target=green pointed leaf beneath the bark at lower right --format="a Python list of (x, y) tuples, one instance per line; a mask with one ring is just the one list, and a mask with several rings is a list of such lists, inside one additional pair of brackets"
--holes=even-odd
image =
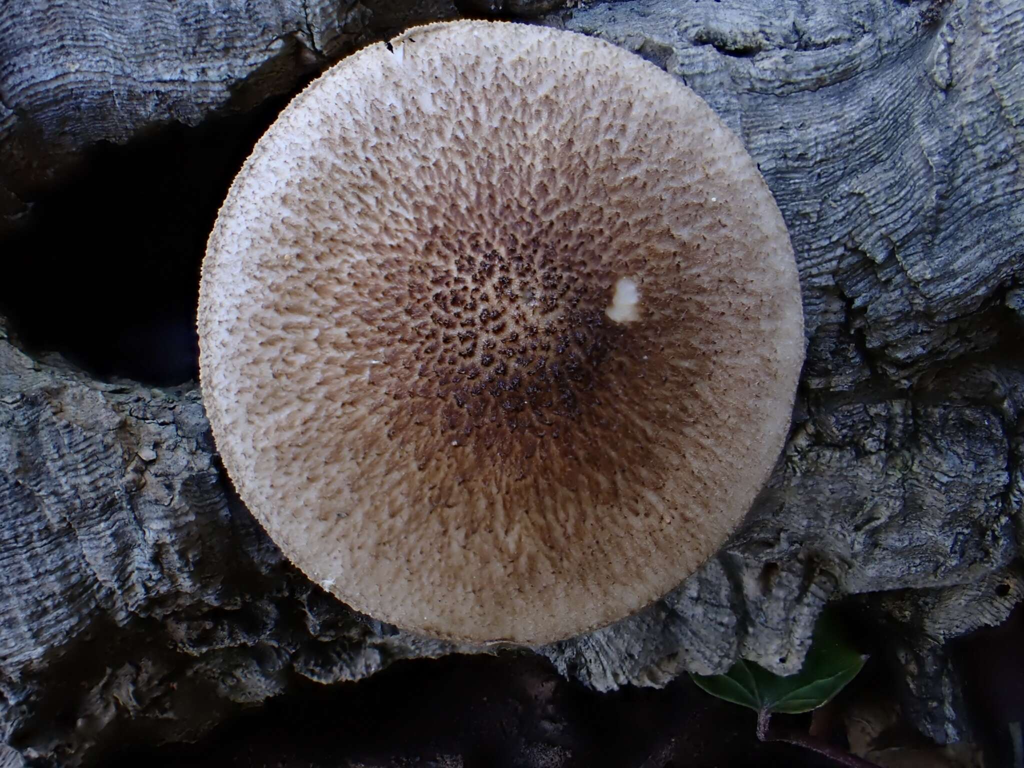
[(712, 695), (758, 712), (796, 715), (816, 710), (857, 676), (867, 656), (843, 633), (828, 611), (818, 618), (811, 648), (796, 675), (779, 677), (740, 659), (724, 675), (690, 675)]

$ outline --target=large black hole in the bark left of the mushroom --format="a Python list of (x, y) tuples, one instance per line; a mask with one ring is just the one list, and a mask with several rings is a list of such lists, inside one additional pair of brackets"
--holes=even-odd
[(25, 349), (59, 352), (103, 379), (166, 386), (196, 378), (206, 239), (231, 179), (288, 98), (88, 152), (0, 241), (0, 315)]

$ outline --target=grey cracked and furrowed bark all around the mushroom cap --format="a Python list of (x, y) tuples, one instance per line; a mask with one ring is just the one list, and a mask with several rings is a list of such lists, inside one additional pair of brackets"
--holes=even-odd
[[(245, 110), (374, 30), (454, 12), (257, 3), (231, 27), (226, 4), (137, 5), (150, 32), (102, 38), (110, 57), (79, 70), (88, 14), (0, 10), (4, 183)], [(944, 644), (1022, 595), (1024, 3), (633, 0), (543, 22), (654, 60), (742, 137), (790, 227), (808, 359), (785, 451), (720, 554), (639, 614), (537, 652), (599, 690), (737, 657), (790, 673), (822, 605), (858, 595), (918, 727), (968, 736)], [(73, 23), (63, 48), (33, 37)], [(219, 32), (189, 48), (145, 37), (161, 29)], [(139, 41), (160, 53), (144, 72), (116, 55)], [(15, 342), (0, 332), (0, 741), (15, 751), (0, 765), (189, 738), (301, 678), (473, 650), (355, 615), (283, 561), (231, 495), (195, 385), (100, 382)]]

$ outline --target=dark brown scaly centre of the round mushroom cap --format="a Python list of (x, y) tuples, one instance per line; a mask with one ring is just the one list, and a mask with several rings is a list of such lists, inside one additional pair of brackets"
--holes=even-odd
[(390, 337), (381, 383), (450, 443), (564, 439), (606, 399), (605, 367), (629, 331), (605, 313), (612, 276), (586, 254), (539, 237), (434, 231), (416, 258), (384, 261), (370, 304)]

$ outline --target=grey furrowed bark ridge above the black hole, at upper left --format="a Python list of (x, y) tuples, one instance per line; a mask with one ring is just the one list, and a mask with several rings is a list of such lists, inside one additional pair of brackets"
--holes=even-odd
[(0, 8), (0, 232), (96, 141), (284, 93), (449, 0), (27, 0)]

